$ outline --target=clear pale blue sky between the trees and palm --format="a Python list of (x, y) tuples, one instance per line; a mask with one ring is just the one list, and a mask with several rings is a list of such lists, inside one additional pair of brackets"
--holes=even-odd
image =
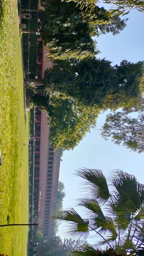
[[(112, 65), (120, 64), (123, 59), (131, 62), (144, 60), (144, 13), (133, 10), (124, 18), (129, 18), (129, 21), (120, 34), (106, 34), (96, 38), (101, 51), (99, 57), (110, 60)], [(86, 134), (74, 150), (63, 152), (59, 180), (65, 186), (65, 210), (75, 207), (77, 199), (84, 196), (84, 181), (75, 175), (76, 170), (82, 167), (101, 169), (106, 177), (113, 169), (121, 169), (135, 175), (140, 183), (144, 183), (144, 154), (131, 152), (128, 148), (115, 145), (110, 139), (105, 141), (101, 137), (100, 130), (106, 114), (99, 115), (96, 127)], [(66, 236), (63, 225), (59, 227), (59, 235), (62, 238)]]

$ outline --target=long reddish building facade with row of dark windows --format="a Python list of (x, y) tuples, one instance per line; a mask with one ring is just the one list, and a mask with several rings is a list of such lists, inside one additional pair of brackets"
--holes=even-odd
[(61, 150), (54, 152), (49, 134), (49, 117), (45, 111), (35, 108), (34, 134), (34, 221), (43, 233), (43, 241), (54, 236), (57, 188)]

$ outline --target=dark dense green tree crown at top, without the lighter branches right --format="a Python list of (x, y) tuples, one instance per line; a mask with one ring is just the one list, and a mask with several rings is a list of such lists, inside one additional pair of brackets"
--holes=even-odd
[(42, 17), (43, 39), (50, 59), (83, 59), (96, 54), (92, 27), (74, 3), (43, 1), (48, 14)]

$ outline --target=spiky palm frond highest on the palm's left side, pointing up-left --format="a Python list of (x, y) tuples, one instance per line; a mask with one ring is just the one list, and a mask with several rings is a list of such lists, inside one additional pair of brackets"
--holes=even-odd
[(107, 185), (106, 177), (101, 170), (96, 169), (79, 169), (77, 175), (89, 181), (90, 192), (99, 202), (106, 202), (109, 199), (110, 193)]

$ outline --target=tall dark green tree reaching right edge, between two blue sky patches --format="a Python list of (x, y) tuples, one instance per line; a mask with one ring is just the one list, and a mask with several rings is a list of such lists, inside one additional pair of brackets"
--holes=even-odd
[(77, 99), (85, 106), (117, 109), (139, 97), (143, 90), (143, 62), (123, 60), (112, 67), (106, 59), (57, 61), (45, 73), (48, 87)]

